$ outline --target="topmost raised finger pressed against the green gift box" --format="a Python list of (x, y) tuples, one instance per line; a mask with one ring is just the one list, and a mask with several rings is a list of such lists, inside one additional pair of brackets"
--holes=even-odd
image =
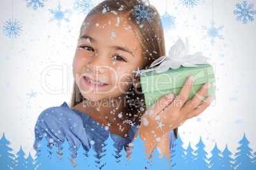
[(185, 101), (187, 101), (189, 92), (192, 88), (193, 81), (194, 75), (190, 75), (187, 81), (185, 82), (183, 88), (181, 89), (180, 94), (173, 101), (174, 109), (180, 109), (184, 105)]

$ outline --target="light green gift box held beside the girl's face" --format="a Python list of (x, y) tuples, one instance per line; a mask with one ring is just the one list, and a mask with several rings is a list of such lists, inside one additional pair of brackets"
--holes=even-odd
[(163, 73), (150, 71), (141, 74), (141, 89), (145, 96), (146, 108), (168, 93), (179, 95), (190, 75), (194, 75), (195, 79), (187, 101), (191, 100), (206, 82), (210, 82), (211, 87), (204, 99), (207, 96), (215, 97), (215, 75), (213, 67), (209, 63), (198, 64), (197, 67), (181, 66), (180, 69), (169, 69)]

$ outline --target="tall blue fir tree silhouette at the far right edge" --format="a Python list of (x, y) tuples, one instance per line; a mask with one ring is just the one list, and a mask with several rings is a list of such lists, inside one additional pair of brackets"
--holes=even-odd
[(250, 144), (250, 141), (248, 141), (245, 137), (245, 133), (243, 134), (243, 139), (240, 140), (239, 142), (238, 152), (234, 156), (238, 156), (235, 158), (235, 164), (236, 164), (236, 169), (253, 169), (253, 164), (252, 164), (252, 159), (250, 157), (253, 157), (251, 151), (252, 148), (248, 147)]

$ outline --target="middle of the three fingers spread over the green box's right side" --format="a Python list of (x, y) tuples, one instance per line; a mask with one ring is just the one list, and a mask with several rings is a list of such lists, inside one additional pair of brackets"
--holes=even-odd
[(183, 107), (180, 109), (181, 114), (186, 114), (194, 110), (198, 105), (200, 105), (201, 101), (204, 99), (204, 96), (207, 94), (209, 88), (211, 87), (210, 82), (206, 82), (202, 88), (196, 93), (196, 95), (192, 98), (192, 100), (188, 100)]

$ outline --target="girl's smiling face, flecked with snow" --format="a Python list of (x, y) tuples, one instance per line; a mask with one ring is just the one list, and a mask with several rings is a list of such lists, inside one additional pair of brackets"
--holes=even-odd
[[(73, 75), (83, 97), (118, 98), (133, 86), (139, 88), (135, 75), (142, 69), (142, 49), (127, 19), (95, 16), (84, 26), (73, 60)], [(88, 78), (104, 85), (90, 83)]]

